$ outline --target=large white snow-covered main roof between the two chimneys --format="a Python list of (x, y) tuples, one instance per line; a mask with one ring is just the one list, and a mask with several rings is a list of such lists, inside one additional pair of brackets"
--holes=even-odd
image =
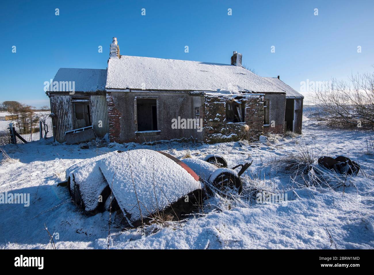
[(107, 89), (284, 92), (239, 66), (122, 55), (108, 61)]

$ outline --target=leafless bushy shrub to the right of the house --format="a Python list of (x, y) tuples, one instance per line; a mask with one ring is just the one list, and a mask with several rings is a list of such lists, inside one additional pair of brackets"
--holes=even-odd
[(331, 79), (312, 92), (315, 118), (335, 127), (374, 127), (374, 72)]

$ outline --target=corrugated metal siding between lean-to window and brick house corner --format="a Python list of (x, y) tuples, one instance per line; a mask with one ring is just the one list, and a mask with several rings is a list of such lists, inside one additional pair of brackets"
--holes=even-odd
[[(93, 129), (96, 136), (104, 137), (109, 133), (107, 99), (102, 95), (91, 95), (90, 101)], [(99, 121), (102, 121), (102, 127), (99, 127)]]

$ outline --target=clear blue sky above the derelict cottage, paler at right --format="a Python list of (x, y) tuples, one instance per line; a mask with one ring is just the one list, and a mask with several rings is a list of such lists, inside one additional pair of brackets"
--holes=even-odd
[(105, 69), (112, 37), (122, 55), (230, 64), (236, 50), (298, 91), (374, 64), (373, 0), (1, 1), (0, 22), (0, 102), (36, 107), (59, 68)]

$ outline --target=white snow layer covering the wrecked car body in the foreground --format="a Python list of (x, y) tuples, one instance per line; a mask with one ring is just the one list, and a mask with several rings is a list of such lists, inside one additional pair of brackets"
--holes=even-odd
[(94, 157), (68, 169), (71, 178), (72, 173), (79, 184), (86, 211), (97, 206), (98, 195), (109, 185), (123, 213), (131, 215), (131, 221), (150, 216), (200, 189), (200, 183), (181, 166), (148, 149)]

